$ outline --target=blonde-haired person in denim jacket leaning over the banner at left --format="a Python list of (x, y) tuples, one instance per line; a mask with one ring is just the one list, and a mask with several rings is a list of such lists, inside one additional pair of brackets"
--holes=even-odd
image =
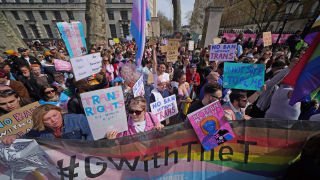
[[(88, 120), (82, 114), (66, 114), (57, 106), (45, 104), (34, 110), (32, 120), (32, 130), (21, 138), (93, 140)], [(17, 138), (20, 138), (18, 134), (10, 135), (2, 143), (10, 145)]]

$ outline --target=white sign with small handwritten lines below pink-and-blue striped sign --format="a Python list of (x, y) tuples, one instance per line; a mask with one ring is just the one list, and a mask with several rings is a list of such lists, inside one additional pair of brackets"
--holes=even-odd
[(89, 54), (70, 60), (76, 81), (97, 74), (101, 70), (100, 53)]

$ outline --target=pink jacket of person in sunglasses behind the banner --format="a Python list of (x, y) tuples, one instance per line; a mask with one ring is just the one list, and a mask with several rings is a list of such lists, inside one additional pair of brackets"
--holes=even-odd
[[(152, 123), (152, 120), (151, 120), (149, 114), (152, 116), (154, 124)], [(150, 112), (149, 113), (146, 112), (144, 114), (144, 116), (146, 117), (146, 128), (144, 129), (144, 131), (152, 130), (152, 129), (155, 128), (156, 125), (160, 124), (159, 119), (154, 114), (152, 114)], [(137, 131), (136, 131), (135, 127), (134, 127), (133, 120), (129, 116), (129, 118), (128, 118), (128, 130), (119, 133), (117, 135), (117, 138), (122, 137), (122, 136), (130, 136), (130, 135), (133, 135), (133, 134), (137, 134)]]

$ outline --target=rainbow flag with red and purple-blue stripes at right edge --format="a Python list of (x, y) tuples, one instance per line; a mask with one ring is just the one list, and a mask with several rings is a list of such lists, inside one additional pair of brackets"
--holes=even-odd
[(320, 87), (320, 32), (283, 82), (295, 86), (290, 105), (301, 101)]

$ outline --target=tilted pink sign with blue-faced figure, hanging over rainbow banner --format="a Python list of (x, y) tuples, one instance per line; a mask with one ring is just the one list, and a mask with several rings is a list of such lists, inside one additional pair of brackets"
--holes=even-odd
[(234, 138), (219, 101), (213, 102), (191, 114), (188, 119), (206, 151)]

